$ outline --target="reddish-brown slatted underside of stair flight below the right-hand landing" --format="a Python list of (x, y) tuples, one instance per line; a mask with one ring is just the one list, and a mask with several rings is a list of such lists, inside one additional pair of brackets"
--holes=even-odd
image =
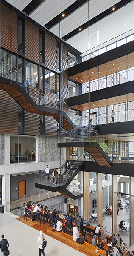
[(84, 147), (87, 152), (95, 159), (95, 161), (100, 165), (100, 166), (107, 166), (111, 167), (111, 165), (107, 162), (105, 157), (100, 153), (98, 148), (96, 147)]

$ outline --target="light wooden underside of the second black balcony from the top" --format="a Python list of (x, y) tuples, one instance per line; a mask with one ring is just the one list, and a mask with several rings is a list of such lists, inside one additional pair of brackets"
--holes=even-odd
[[(91, 99), (92, 100), (92, 99)], [(90, 102), (90, 109), (92, 108), (100, 108), (105, 106), (111, 106), (114, 104), (124, 103), (124, 102), (131, 102), (134, 100), (134, 93), (129, 93), (125, 95), (120, 95), (108, 99), (101, 99), (98, 101)], [(75, 108), (77, 110), (88, 110), (89, 103), (79, 104), (70, 106), (70, 108)]]

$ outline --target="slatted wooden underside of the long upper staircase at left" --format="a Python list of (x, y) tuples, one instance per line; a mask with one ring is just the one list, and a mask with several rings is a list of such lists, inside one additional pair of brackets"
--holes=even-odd
[[(30, 113), (36, 113), (36, 114), (41, 114), (41, 115), (46, 115), (46, 116), (53, 116), (57, 122), (60, 123), (60, 114), (55, 114), (55, 113), (50, 113), (46, 111), (41, 111), (33, 107), (33, 105), (28, 102), (27, 99), (20, 93), (17, 88), (12, 87), (7, 84), (2, 84), (0, 83), (0, 90), (8, 92), (11, 97), (24, 108), (25, 111), (30, 112)], [(62, 126), (62, 116), (61, 116), (61, 126)], [(63, 118), (63, 128), (64, 129), (72, 129), (73, 127), (70, 125), (70, 123)]]

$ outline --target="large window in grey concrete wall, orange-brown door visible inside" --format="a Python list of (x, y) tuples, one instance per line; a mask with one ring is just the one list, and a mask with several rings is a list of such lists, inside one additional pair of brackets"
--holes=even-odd
[(36, 137), (10, 135), (10, 163), (36, 161)]

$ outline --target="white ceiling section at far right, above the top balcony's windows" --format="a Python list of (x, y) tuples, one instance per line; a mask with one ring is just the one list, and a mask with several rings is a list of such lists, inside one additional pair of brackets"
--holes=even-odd
[[(131, 10), (131, 11), (130, 11)], [(107, 16), (90, 26), (90, 48), (97, 46), (97, 30), (99, 31), (99, 44), (111, 40), (118, 35), (134, 28), (134, 1), (124, 6), (122, 9)], [(124, 25), (126, 23), (126, 25)], [(134, 33), (131, 32), (131, 33)], [(125, 37), (123, 35), (122, 37)], [(118, 39), (116, 38), (116, 41)], [(81, 31), (73, 38), (67, 40), (67, 43), (81, 52), (88, 50), (88, 29)]]

